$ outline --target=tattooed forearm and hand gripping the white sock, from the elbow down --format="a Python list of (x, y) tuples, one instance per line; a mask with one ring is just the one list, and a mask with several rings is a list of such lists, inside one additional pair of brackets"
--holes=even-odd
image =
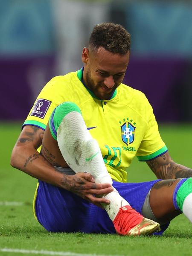
[(23, 148), (20, 151), (20, 148), (15, 147), (12, 152), (11, 165), (32, 177), (69, 190), (99, 207), (102, 207), (101, 203), (110, 203), (105, 198), (94, 196), (112, 192), (113, 188), (110, 184), (96, 184), (93, 177), (88, 173), (65, 175), (58, 172), (35, 149)]

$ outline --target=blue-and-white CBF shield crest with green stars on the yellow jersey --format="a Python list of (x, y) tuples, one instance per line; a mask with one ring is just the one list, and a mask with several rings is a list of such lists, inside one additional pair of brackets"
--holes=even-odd
[[(126, 145), (129, 145), (134, 142), (135, 129), (136, 129), (136, 127), (134, 125), (136, 125), (136, 123), (135, 122), (132, 123), (133, 122), (132, 119), (130, 119), (130, 121), (129, 121), (129, 118), (127, 118), (126, 122), (125, 122), (125, 119), (123, 119), (123, 121), (124, 121), (124, 123), (123, 123), (123, 125), (121, 125), (122, 141)], [(122, 122), (119, 121), (119, 123), (121, 124)]]

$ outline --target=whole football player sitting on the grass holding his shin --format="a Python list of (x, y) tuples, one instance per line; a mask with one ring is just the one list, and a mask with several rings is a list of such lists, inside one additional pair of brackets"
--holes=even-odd
[[(35, 218), (49, 231), (150, 235), (182, 212), (192, 221), (192, 169), (171, 159), (144, 94), (122, 84), (130, 44), (122, 26), (95, 26), (84, 67), (49, 81), (23, 124), (11, 164), (38, 178)], [(125, 183), (135, 156), (169, 180)]]

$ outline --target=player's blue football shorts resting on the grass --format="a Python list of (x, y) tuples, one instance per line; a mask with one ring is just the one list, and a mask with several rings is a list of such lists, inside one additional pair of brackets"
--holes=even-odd
[[(142, 211), (145, 197), (158, 180), (143, 183), (113, 181), (119, 194)], [(65, 189), (39, 180), (35, 213), (39, 223), (50, 232), (116, 233), (107, 212)], [(168, 227), (164, 225), (160, 235)]]

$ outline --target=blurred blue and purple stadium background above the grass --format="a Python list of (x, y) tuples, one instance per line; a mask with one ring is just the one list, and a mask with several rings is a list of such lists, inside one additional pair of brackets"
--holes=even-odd
[(1, 120), (24, 120), (52, 76), (81, 68), (97, 23), (132, 35), (124, 82), (143, 91), (159, 122), (192, 122), (192, 2), (0, 0)]

